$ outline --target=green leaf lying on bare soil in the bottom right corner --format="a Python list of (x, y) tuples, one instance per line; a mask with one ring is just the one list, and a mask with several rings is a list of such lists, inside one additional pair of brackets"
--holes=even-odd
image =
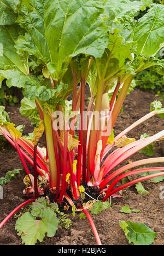
[(157, 235), (143, 223), (120, 221), (120, 226), (124, 230), (128, 242), (134, 245), (150, 245)]

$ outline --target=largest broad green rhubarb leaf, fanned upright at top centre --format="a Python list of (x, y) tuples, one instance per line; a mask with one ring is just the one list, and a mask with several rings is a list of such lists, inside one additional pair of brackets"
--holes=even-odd
[(40, 55), (57, 71), (65, 69), (71, 57), (80, 53), (101, 57), (108, 45), (108, 28), (101, 16), (103, 1), (32, 0), (31, 4), (33, 12), (28, 12), (24, 5), (19, 13), (19, 23), (26, 28), (32, 41), (30, 43), (29, 36), (28, 43), (21, 37), (22, 48), (33, 51), (37, 57)]

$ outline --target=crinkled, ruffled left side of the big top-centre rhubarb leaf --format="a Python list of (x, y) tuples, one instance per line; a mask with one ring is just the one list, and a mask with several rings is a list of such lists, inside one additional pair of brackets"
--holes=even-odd
[[(48, 63), (50, 61), (50, 54), (48, 44), (46, 43), (43, 20), (45, 1), (43, 3), (42, 1), (35, 2), (36, 9), (33, 9), (33, 12), (28, 13), (26, 5), (22, 5), (20, 9), (18, 21), (19, 24), (26, 29), (28, 34), (19, 38), (16, 43), (16, 48), (19, 52), (24, 50), (29, 52), (29, 54), (33, 52), (34, 55), (39, 56), (45, 63)], [(25, 42), (26, 39), (27, 42)]]

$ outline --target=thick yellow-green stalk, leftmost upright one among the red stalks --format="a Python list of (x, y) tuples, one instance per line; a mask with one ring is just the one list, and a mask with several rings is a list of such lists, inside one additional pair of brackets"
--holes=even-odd
[(57, 186), (57, 165), (54, 150), (54, 141), (52, 135), (51, 117), (44, 112), (44, 126), (46, 135), (46, 149), (48, 151), (49, 167), (50, 167), (50, 187), (56, 189)]

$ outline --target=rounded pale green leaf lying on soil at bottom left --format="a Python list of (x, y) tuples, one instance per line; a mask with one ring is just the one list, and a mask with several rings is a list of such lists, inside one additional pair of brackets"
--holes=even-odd
[(29, 212), (22, 214), (16, 221), (15, 229), (17, 235), (21, 236), (22, 243), (25, 245), (34, 245), (39, 240), (43, 241), (45, 234), (53, 237), (58, 229), (58, 219), (56, 213), (50, 209), (45, 209), (42, 213), (42, 219), (36, 218)]

